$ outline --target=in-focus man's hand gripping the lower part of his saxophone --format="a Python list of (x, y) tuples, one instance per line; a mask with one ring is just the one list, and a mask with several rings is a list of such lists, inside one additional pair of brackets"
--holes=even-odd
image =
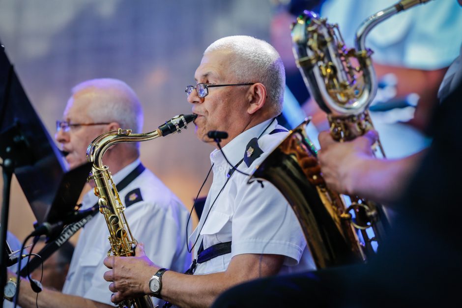
[(139, 243), (132, 257), (109, 256), (104, 259), (104, 265), (111, 269), (104, 273), (104, 280), (111, 281), (109, 290), (114, 294), (111, 302), (119, 303), (126, 299), (132, 299), (149, 295), (148, 281), (159, 269), (144, 254), (144, 245)]

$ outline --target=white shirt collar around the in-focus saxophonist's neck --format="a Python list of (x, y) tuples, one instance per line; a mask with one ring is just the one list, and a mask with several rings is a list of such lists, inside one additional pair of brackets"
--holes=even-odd
[[(222, 148), (226, 157), (230, 163), (233, 164), (233, 166), (244, 157), (245, 147), (252, 138), (259, 137), (261, 133), (269, 133), (274, 129), (274, 127), (278, 125), (278, 121), (274, 119), (274, 121), (268, 127), (272, 120), (273, 119), (269, 119), (261, 122), (260, 124), (257, 124), (254, 127), (251, 127), (248, 130), (240, 133)], [(263, 130), (265, 130), (265, 132), (263, 132)], [(215, 149), (212, 151), (212, 153), (210, 153), (210, 162), (216, 165), (227, 164), (223, 154), (219, 149)]]

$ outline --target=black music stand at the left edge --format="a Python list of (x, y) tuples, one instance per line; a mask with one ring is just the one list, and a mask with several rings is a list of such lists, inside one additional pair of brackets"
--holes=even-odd
[[(16, 76), (0, 43), (0, 157), (3, 172), (3, 202), (0, 223), (0, 253), (5, 253), (10, 185), (13, 173), (29, 202), (37, 225), (56, 224), (75, 211), (90, 170), (90, 164), (65, 173), (65, 164), (53, 139)], [(72, 189), (70, 189), (72, 187)], [(6, 264), (0, 257), (0, 295), (6, 280)], [(0, 300), (0, 307), (3, 301)]]

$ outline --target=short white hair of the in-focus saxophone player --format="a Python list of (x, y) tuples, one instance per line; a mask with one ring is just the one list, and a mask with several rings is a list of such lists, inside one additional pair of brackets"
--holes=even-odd
[(236, 55), (230, 59), (230, 69), (236, 83), (258, 82), (266, 87), (274, 114), (282, 112), (286, 73), (276, 49), (269, 43), (252, 36), (227, 36), (213, 42), (204, 52), (226, 50)]

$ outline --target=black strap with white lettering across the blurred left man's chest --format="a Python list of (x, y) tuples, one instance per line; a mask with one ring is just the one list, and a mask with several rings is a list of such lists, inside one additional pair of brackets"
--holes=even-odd
[[(142, 163), (140, 163), (135, 169), (133, 169), (130, 173), (128, 173), (127, 176), (125, 176), (118, 184), (115, 185), (115, 188), (117, 191), (123, 190), (125, 187), (127, 187), (133, 180), (135, 180), (141, 173), (146, 168), (143, 166)], [(130, 204), (126, 205), (126, 207), (130, 206)], [(77, 233), (78, 230), (80, 230), (84, 225), (86, 225), (98, 212), (99, 212), (99, 206), (98, 203), (94, 204), (90, 209), (85, 210), (88, 212), (88, 215), (79, 220), (78, 222), (75, 222), (73, 224), (68, 224), (66, 225), (61, 233), (58, 235), (58, 237), (45, 245), (44, 248), (40, 252), (37, 252), (38, 255), (42, 257), (40, 258), (33, 258), (29, 262), (29, 266), (26, 264), (21, 269), (20, 275), (22, 277), (26, 277), (28, 275), (28, 272), (32, 272), (36, 268), (40, 266), (42, 262), (45, 262), (45, 260), (50, 257), (54, 252), (56, 252), (59, 247), (61, 247), (62, 244), (67, 242), (75, 233)]]

